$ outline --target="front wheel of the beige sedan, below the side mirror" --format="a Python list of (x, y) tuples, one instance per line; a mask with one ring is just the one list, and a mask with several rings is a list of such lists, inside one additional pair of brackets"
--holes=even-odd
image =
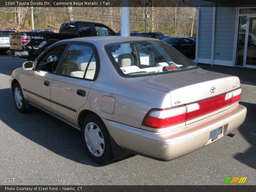
[(16, 82), (13, 87), (13, 97), (15, 101), (16, 108), (20, 113), (26, 113), (28, 110), (25, 105), (25, 98), (23, 96), (20, 84)]

